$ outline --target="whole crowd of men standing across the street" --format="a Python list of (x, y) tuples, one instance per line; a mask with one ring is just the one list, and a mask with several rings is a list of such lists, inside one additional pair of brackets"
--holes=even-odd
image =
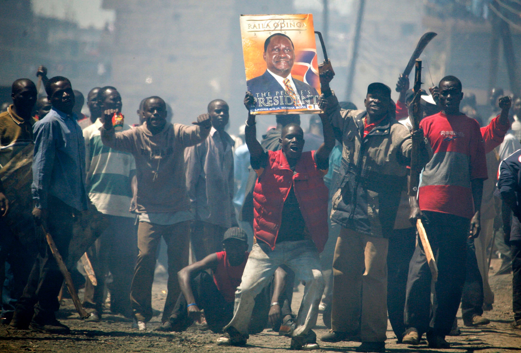
[[(139, 123), (121, 126), (116, 87), (93, 88), (87, 116), (67, 78), (48, 79), (44, 67), (37, 75), (46, 96), (16, 80), (0, 114), (2, 323), (13, 329), (70, 333), (55, 316), (66, 290), (46, 233), (69, 270), (84, 274), (76, 282), (89, 321), (109, 307), (147, 329), (163, 238), (159, 331), (205, 326), (222, 333), (219, 345), (241, 346), (271, 326), (292, 349), (312, 350), (322, 311), (322, 342), (383, 352), (389, 318), (398, 343), (425, 334), (429, 347), (449, 348), (460, 305), (464, 325), (490, 322), (490, 251), (503, 259), (500, 273), (513, 272), (521, 329), (521, 97), (492, 90), (483, 119), (449, 75), (419, 93), (415, 130), (408, 77), (396, 83), (396, 103), (375, 82), (357, 109), (338, 101), (326, 71), (324, 113), (307, 132), (299, 115), (278, 115), (259, 142), (250, 92), (232, 137), (222, 99), (183, 125), (167, 121), (162, 98), (146, 97)], [(413, 150), (423, 169), (417, 195), (407, 194)], [(433, 285), (417, 219), (436, 254)], [(305, 286), (296, 315), (295, 283)]]

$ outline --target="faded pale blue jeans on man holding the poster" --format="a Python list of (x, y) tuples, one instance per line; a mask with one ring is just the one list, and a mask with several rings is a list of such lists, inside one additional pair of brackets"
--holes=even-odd
[(282, 264), (292, 269), (296, 277), (306, 283), (293, 336), (306, 336), (311, 331), (317, 322), (318, 304), (324, 292), (320, 259), (311, 240), (281, 242), (276, 245), (275, 250), (271, 250), (264, 242), (253, 245), (242, 274), (241, 285), (235, 292), (233, 318), (223, 331), (226, 332), (228, 327), (233, 326), (243, 335), (248, 333), (255, 297)]

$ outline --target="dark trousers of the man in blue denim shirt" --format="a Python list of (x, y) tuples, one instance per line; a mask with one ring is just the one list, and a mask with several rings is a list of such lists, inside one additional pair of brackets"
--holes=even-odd
[[(61, 257), (67, 261), (69, 242), (72, 237), (73, 213), (77, 211), (53, 196), (49, 196), (48, 204), (46, 230), (53, 236)], [(54, 313), (59, 309), (58, 293), (64, 277), (51, 253), (51, 248), (47, 245), (45, 235), (38, 227), (36, 232), (40, 233), (37, 236), (40, 250), (27, 285), (17, 302), (14, 315), (18, 321), (27, 322), (32, 317), (36, 323), (45, 324), (56, 319)]]

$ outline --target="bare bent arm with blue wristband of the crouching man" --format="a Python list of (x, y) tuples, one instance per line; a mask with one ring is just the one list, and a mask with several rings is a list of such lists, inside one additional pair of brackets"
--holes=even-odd
[(201, 316), (201, 310), (197, 307), (197, 303), (195, 302), (194, 294), (192, 292), (192, 286), (190, 281), (196, 273), (202, 272), (207, 269), (212, 269), (212, 271), (217, 270), (217, 254), (213, 253), (202, 259), (201, 261), (194, 262), (187, 267), (183, 268), (181, 271), (177, 273), (177, 279), (179, 281), (179, 286), (181, 287), (181, 292), (183, 292), (184, 298), (187, 299), (187, 307), (188, 316), (191, 319), (199, 319)]

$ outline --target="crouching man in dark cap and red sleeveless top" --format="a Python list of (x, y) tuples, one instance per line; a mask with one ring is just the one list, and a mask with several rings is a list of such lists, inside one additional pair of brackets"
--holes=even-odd
[[(222, 249), (223, 251), (210, 254), (177, 273), (182, 293), (168, 321), (157, 331), (184, 331), (194, 320), (201, 318), (201, 309), (204, 310), (206, 322), (213, 332), (222, 332), (222, 327), (230, 322), (233, 317), (234, 293), (241, 283), (246, 260), (250, 254), (246, 251), (248, 249), (246, 232), (238, 227), (228, 229), (222, 239)], [(212, 269), (213, 275), (206, 272), (208, 269)], [(277, 271), (279, 272), (280, 269)], [(280, 317), (278, 301), (284, 288), (284, 276), (282, 271), (280, 272), (275, 274), (271, 309), (267, 291), (263, 291), (255, 298), (254, 315), (249, 330), (252, 334), (265, 329), (268, 310), (270, 310), (270, 321)]]

